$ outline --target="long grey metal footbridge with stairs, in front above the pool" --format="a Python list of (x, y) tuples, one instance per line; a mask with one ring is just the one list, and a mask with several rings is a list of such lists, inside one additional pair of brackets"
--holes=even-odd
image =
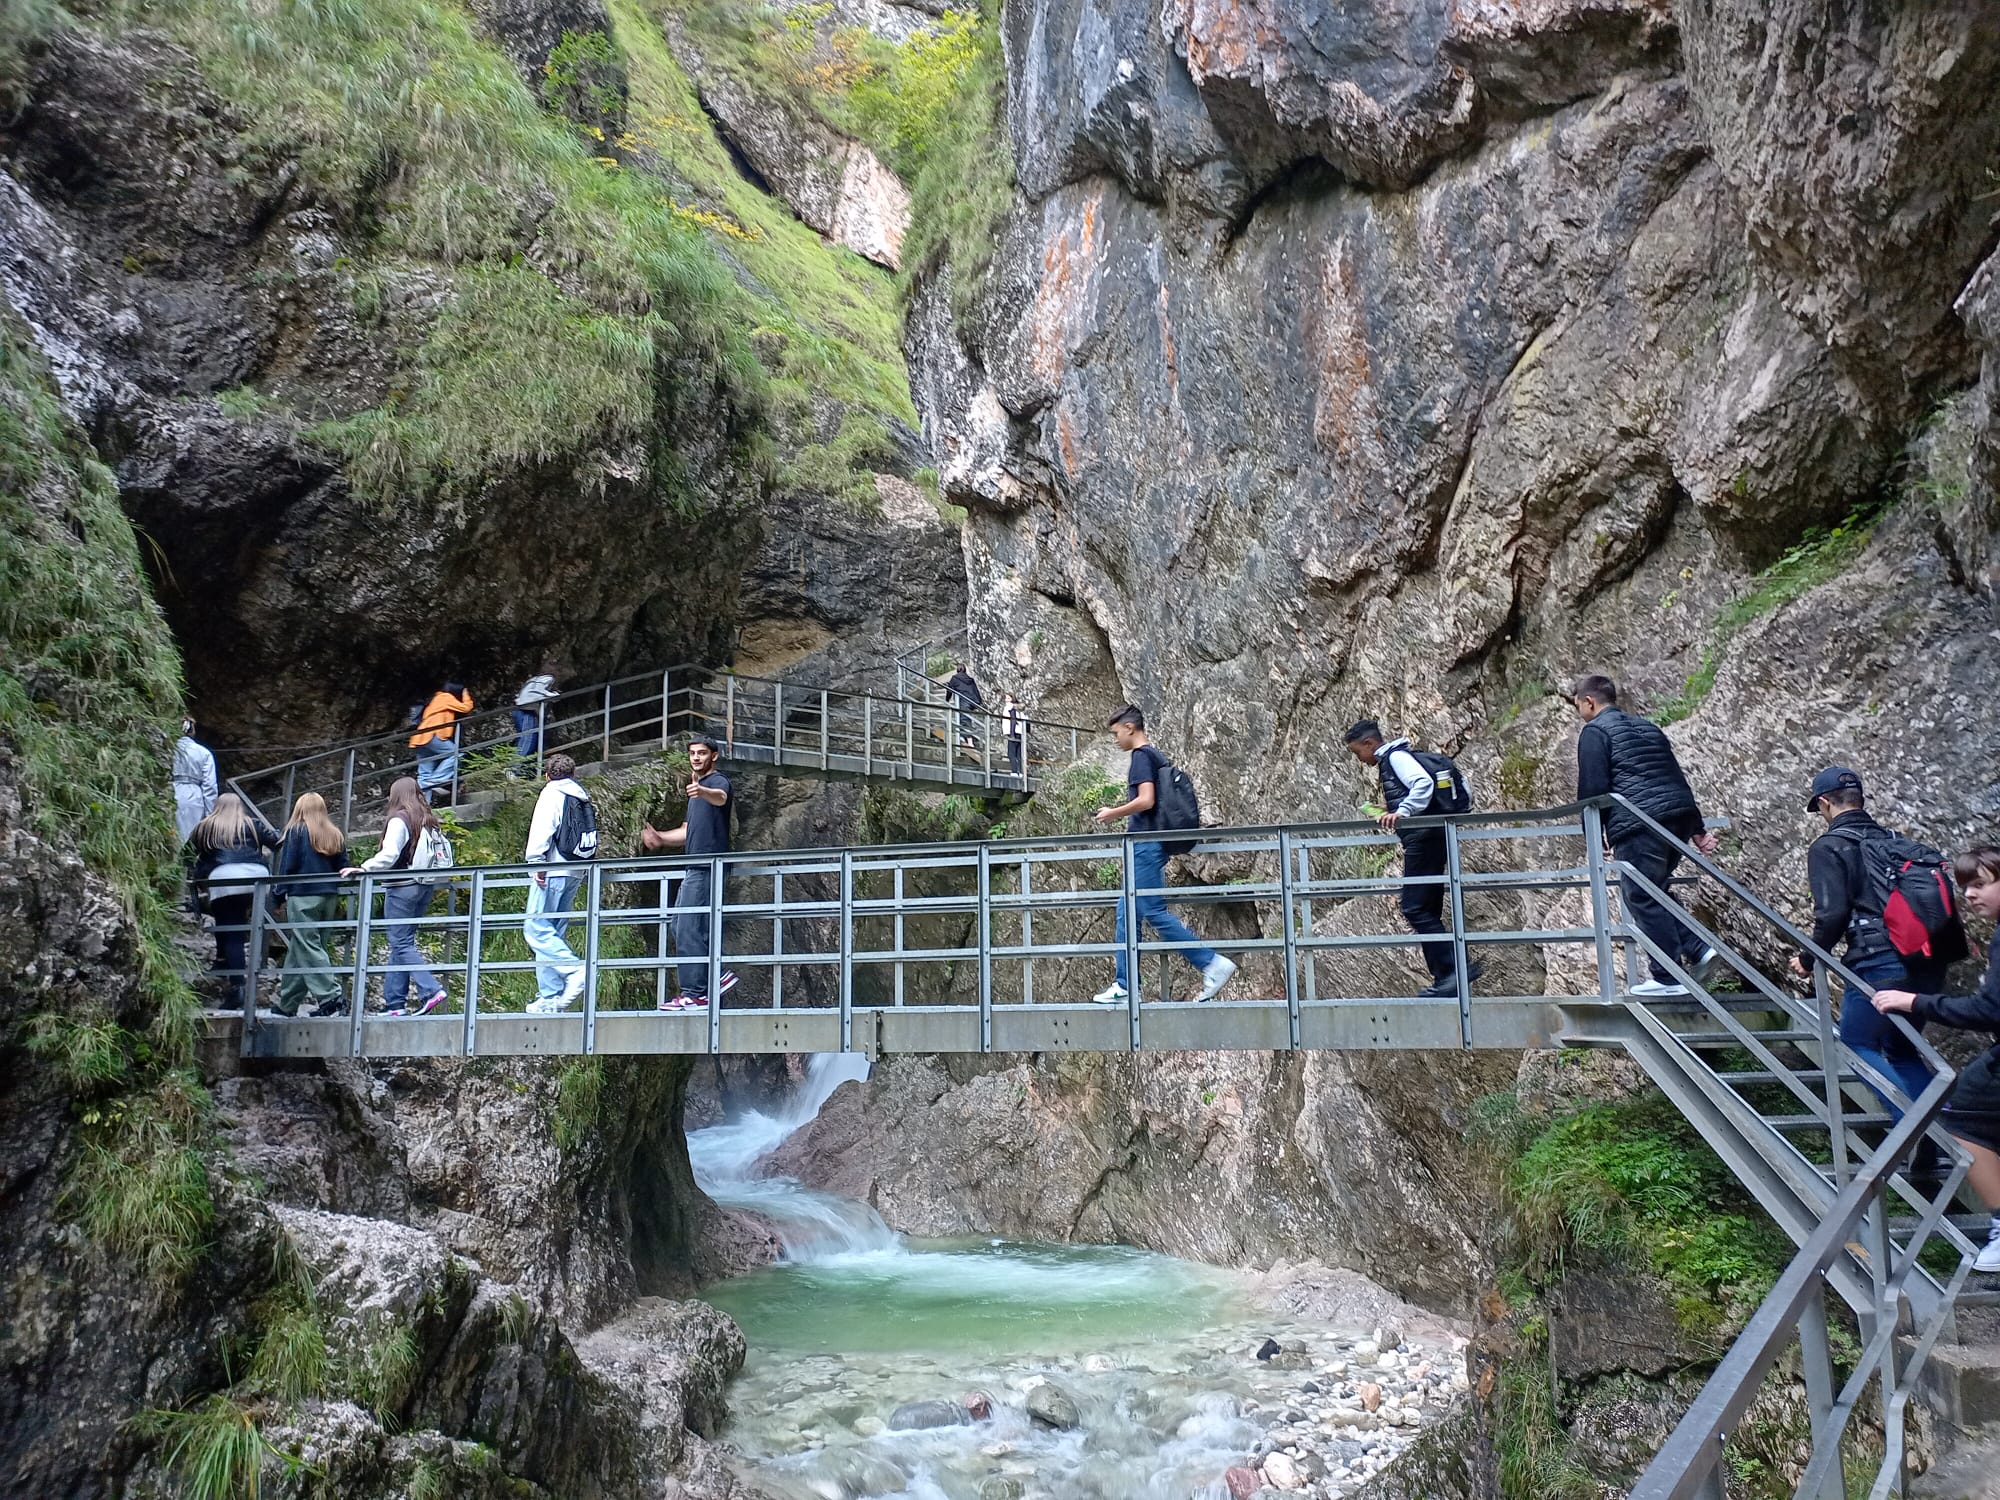
[[(416, 1018), (370, 1010), (372, 986), (396, 966), (378, 910), (390, 878), (364, 876), (346, 882), (352, 914), (318, 924), (332, 940), (318, 972), (338, 984), (342, 1014), (252, 1008), (216, 1024), (240, 1028), (242, 1052), (260, 1058), (1616, 1046), (1800, 1246), (1632, 1494), (1720, 1500), (1724, 1442), (1780, 1360), (1802, 1372), (1814, 1434), (1796, 1494), (1900, 1494), (1904, 1410), (1924, 1358), (1950, 1334), (1954, 1306), (1994, 1300), (1964, 1294), (1974, 1246), (1950, 1210), (1966, 1156), (1936, 1126), (1952, 1070), (1904, 1028), (1934, 1080), (1916, 1100), (1902, 1096), (1838, 1040), (1828, 980), (1846, 986), (1848, 1004), (1864, 1004), (1868, 986), (1636, 808), (1694, 874), (1662, 890), (1620, 864), (1602, 842), (1612, 802), (1410, 820), (1444, 826), (1446, 872), (1428, 880), (1444, 888), (1446, 940), (1460, 976), (1486, 960), (1482, 988), (1496, 994), (1462, 980), (1440, 1000), (1404, 994), (1418, 940), (1388, 902), (1368, 900), (1406, 884), (1388, 872), (1394, 838), (1334, 822), (1204, 830), (1194, 878), (1158, 892), (1134, 886), (1144, 834), (596, 860), (578, 868), (570, 916), (582, 992), (558, 1014), (526, 1012), (536, 866), (440, 882), (450, 900), (418, 926), (450, 1002)], [(706, 872), (716, 896), (692, 908), (692, 934), (682, 928), (706, 934), (682, 968), (672, 926), (690, 920), (674, 908), (688, 872)], [(1700, 900), (1680, 900), (1696, 882)], [(1712, 968), (1696, 974), (1660, 952), (1622, 910), (1620, 886), (1714, 946)], [(1216, 1000), (1186, 998), (1196, 984), (1176, 952), (1186, 944), (1140, 932), (1140, 902), (1154, 896), (1240, 964)], [(262, 888), (250, 926), (252, 952), (270, 930), (302, 932)], [(1098, 1006), (1090, 996), (1120, 950), (1142, 984), (1128, 1002)], [(1812, 996), (1766, 976), (1792, 952), (1818, 960)], [(1688, 994), (1634, 996), (1648, 960)], [(706, 978), (710, 998), (660, 1010), (684, 974)], [(740, 980), (726, 992), (724, 974)], [(1920, 1140), (1948, 1164), (1942, 1184), (1906, 1172)], [(1860, 1330), (1860, 1356), (1844, 1364), (1828, 1292)], [(1880, 1448), (1860, 1460), (1864, 1410)]]

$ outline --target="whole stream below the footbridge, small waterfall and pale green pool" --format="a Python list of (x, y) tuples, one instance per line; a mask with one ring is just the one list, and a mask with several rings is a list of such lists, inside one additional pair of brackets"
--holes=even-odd
[[(766, 1492), (1226, 1500), (1222, 1472), (1268, 1450), (1280, 1422), (1304, 1418), (1294, 1406), (1314, 1390), (1308, 1378), (1332, 1380), (1330, 1360), (1346, 1352), (1328, 1342), (1332, 1330), (1272, 1320), (1230, 1272), (1126, 1246), (904, 1242), (868, 1204), (756, 1176), (840, 1084), (866, 1076), (866, 1058), (814, 1056), (776, 1112), (688, 1136), (702, 1190), (760, 1214), (784, 1244), (782, 1264), (706, 1294), (750, 1342), (724, 1436)], [(1254, 1350), (1272, 1334), (1324, 1356), (1312, 1370), (1262, 1364)], [(1074, 1426), (1030, 1416), (1044, 1382), (1074, 1402)], [(986, 1394), (988, 1418), (926, 1428), (898, 1412), (970, 1392)], [(1344, 1430), (1324, 1448), (1358, 1474), (1406, 1436)]]

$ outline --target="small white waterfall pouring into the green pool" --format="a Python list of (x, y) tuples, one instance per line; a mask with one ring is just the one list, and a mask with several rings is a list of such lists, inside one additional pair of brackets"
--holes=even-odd
[(770, 1220), (786, 1260), (824, 1262), (840, 1256), (902, 1254), (900, 1236), (868, 1204), (814, 1192), (796, 1178), (754, 1176), (756, 1164), (820, 1114), (820, 1106), (846, 1082), (868, 1078), (868, 1058), (858, 1052), (814, 1052), (806, 1078), (776, 1114), (746, 1110), (706, 1130), (688, 1134), (694, 1180), (724, 1208), (742, 1208)]

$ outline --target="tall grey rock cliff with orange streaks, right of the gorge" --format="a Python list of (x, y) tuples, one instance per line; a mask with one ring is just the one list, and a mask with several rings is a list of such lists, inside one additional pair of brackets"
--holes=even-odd
[[(1562, 802), (1560, 684), (1608, 670), (1684, 720), (1706, 808), (1794, 914), (1820, 764), (1940, 844), (1990, 836), (1978, 6), (1004, 20), (1022, 192), (974, 316), (936, 278), (908, 334), (970, 510), (976, 670), (1070, 714), (1144, 704), (1222, 822), (1354, 816), (1360, 714), (1458, 752), (1486, 806)], [(918, 1222), (978, 1202), (1212, 1256), (1332, 1238), (1462, 1306), (1452, 1100), (1490, 1068), (1188, 1066), (892, 1064), (828, 1130), (860, 1154), (844, 1180)], [(940, 1116), (1032, 1186), (982, 1194), (1014, 1174), (918, 1150)], [(1188, 1182), (1200, 1212), (1132, 1212)], [(1422, 1256), (1368, 1258), (1412, 1222)]]

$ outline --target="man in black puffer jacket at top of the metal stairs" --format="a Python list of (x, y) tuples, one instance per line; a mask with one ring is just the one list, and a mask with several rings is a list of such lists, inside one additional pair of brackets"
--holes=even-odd
[[(1702, 854), (1714, 852), (1716, 836), (1702, 830), (1702, 808), (1694, 800), (1686, 772), (1680, 770), (1666, 730), (1648, 718), (1624, 712), (1618, 706), (1618, 684), (1610, 678), (1584, 678), (1570, 690), (1570, 698), (1576, 702), (1576, 716), (1584, 720), (1584, 730), (1576, 736), (1576, 800), (1588, 802), (1616, 792)], [(1614, 806), (1604, 812), (1604, 842), (1620, 864), (1646, 876), (1662, 892), (1680, 866), (1680, 850), (1626, 808)], [(1630, 876), (1620, 880), (1620, 890), (1638, 930), (1660, 952), (1674, 954), (1700, 982), (1716, 960), (1714, 948), (1680, 926)], [(1652, 978), (1634, 984), (1632, 994), (1688, 992), (1658, 958), (1650, 958), (1650, 966)]]

